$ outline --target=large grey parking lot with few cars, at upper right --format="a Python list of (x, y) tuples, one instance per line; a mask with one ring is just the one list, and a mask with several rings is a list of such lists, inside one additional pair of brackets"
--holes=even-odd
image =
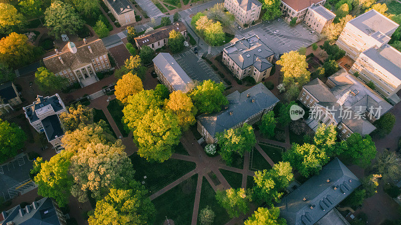
[[(274, 34), (275, 31), (278, 32)], [(246, 37), (257, 35), (276, 54), (283, 54), (317, 42), (318, 35), (316, 33), (309, 34), (311, 31), (312, 29), (303, 23), (290, 27), (283, 20), (274, 20), (270, 23), (264, 22), (256, 25), (243, 34)]]

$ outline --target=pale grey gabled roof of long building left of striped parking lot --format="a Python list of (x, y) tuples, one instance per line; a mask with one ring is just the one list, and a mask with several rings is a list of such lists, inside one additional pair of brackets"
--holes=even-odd
[(188, 91), (188, 85), (193, 84), (192, 79), (189, 78), (169, 53), (159, 53), (152, 61), (175, 90), (185, 93)]

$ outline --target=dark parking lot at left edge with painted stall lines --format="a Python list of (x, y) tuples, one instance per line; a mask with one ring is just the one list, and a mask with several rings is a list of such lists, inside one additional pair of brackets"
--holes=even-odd
[(12, 199), (34, 188), (36, 184), (29, 177), (33, 162), (27, 155), (0, 166), (0, 195), (4, 200)]

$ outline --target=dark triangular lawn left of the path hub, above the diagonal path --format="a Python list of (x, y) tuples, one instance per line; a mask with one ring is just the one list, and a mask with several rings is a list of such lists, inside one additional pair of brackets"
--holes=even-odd
[[(167, 186), (196, 167), (194, 162), (172, 158), (162, 163), (148, 162), (136, 153), (129, 156), (129, 158), (136, 170), (135, 179), (140, 182), (145, 181), (144, 185), (150, 191), (150, 194)], [(143, 178), (144, 176), (146, 176), (146, 179)]]

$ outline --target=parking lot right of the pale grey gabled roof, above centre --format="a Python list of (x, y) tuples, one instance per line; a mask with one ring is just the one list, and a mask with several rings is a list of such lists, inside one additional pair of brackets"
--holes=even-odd
[(199, 82), (212, 80), (216, 83), (222, 82), (218, 75), (202, 58), (198, 58), (192, 50), (173, 55), (173, 58), (182, 67), (185, 73), (192, 79)]

